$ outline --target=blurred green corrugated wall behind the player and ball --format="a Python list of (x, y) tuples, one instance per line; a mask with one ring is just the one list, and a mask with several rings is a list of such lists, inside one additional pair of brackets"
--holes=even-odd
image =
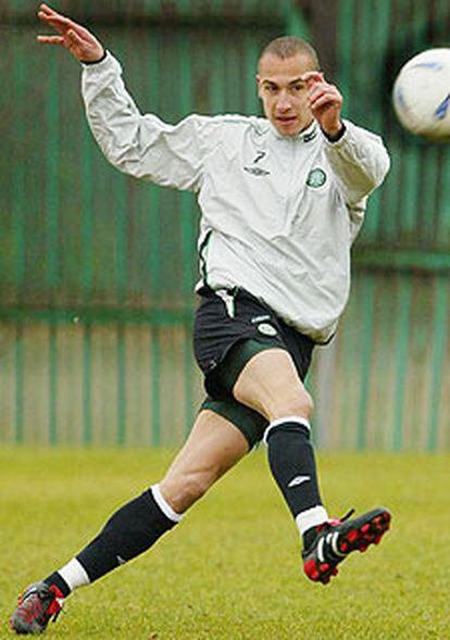
[[(449, 45), (446, 0), (55, 0), (121, 60), (142, 112), (260, 114), (261, 48), (318, 50), (345, 115), (392, 156), (353, 250), (335, 340), (309, 379), (328, 450), (449, 449), (450, 149), (401, 130), (393, 78)], [(121, 175), (93, 142), (79, 67), (0, 0), (0, 442), (173, 446), (202, 399), (191, 348), (198, 209)]]

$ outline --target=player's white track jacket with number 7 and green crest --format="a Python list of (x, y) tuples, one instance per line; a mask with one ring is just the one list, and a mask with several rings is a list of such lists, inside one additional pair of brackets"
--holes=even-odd
[(120, 171), (197, 193), (200, 267), (213, 289), (242, 287), (285, 322), (325, 342), (349, 294), (350, 247), (389, 156), (346, 121), (329, 142), (316, 123), (283, 137), (261, 117), (142, 115), (107, 58), (83, 70), (92, 134)]

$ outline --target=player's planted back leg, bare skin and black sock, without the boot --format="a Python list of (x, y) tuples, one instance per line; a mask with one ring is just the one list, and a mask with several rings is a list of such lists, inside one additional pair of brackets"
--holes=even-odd
[(100, 534), (45, 582), (67, 597), (143, 553), (247, 452), (248, 443), (234, 425), (201, 412), (162, 481), (116, 511)]

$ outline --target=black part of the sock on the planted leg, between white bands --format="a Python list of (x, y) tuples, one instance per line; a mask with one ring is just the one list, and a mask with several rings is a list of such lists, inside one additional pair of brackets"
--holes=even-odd
[(116, 511), (76, 559), (91, 582), (136, 557), (177, 523), (160, 509), (151, 490)]

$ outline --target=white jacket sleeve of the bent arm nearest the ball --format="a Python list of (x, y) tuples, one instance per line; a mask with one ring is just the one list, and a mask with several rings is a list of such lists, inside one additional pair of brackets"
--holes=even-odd
[(346, 131), (337, 142), (325, 140), (325, 153), (349, 208), (378, 187), (390, 160), (382, 138), (345, 121)]

